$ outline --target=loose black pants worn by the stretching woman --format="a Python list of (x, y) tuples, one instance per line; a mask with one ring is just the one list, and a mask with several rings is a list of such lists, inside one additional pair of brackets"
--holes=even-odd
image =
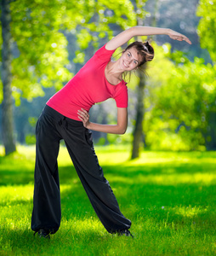
[(60, 228), (60, 181), (57, 156), (60, 140), (65, 145), (82, 185), (105, 229), (110, 233), (128, 230), (131, 222), (120, 212), (117, 199), (105, 179), (94, 152), (91, 131), (81, 121), (65, 118), (46, 106), (36, 126), (35, 187), (31, 229)]

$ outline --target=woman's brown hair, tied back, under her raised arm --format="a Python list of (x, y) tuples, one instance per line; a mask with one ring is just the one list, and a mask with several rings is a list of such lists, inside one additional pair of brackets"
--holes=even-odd
[(153, 60), (155, 52), (148, 41), (146, 41), (145, 43), (135, 41), (134, 43), (129, 44), (128, 47), (124, 49), (124, 52), (128, 49), (131, 49), (132, 47), (134, 47), (137, 50), (138, 55), (141, 55), (142, 57), (142, 61), (139, 63), (138, 67), (142, 66), (147, 61)]

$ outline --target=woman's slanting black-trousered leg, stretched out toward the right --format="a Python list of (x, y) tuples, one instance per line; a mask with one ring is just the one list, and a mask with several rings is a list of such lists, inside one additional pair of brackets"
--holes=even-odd
[(63, 136), (65, 145), (94, 211), (108, 232), (128, 230), (131, 222), (120, 212), (117, 199), (99, 166), (91, 131), (83, 126), (79, 129), (71, 128), (70, 122), (68, 125)]

